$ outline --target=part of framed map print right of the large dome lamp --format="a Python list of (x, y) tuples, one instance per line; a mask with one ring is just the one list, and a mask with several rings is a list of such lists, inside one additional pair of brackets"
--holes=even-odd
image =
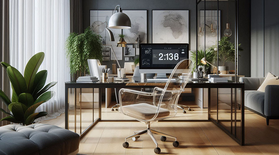
[(123, 29), (127, 43), (135, 44), (138, 35), (141, 43), (147, 43), (147, 10), (122, 10), (131, 20), (131, 29)]

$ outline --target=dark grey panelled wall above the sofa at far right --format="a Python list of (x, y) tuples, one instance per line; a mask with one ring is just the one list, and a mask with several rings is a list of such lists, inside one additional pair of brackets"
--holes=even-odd
[(271, 72), (278, 76), (279, 1), (252, 0), (251, 3), (251, 49), (255, 49), (251, 51), (251, 75), (263, 77)]

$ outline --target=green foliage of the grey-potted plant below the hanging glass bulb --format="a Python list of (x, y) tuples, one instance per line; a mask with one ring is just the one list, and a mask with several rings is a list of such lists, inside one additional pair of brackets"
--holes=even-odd
[[(230, 38), (222, 37), (219, 41), (219, 60), (222, 63), (222, 66), (225, 65), (228, 61), (234, 61), (235, 57), (235, 43), (229, 42)], [(238, 51), (243, 51), (243, 48), (240, 47), (241, 44), (238, 44)], [(214, 60), (217, 61), (217, 51), (214, 51), (214, 48), (217, 45), (209, 48), (210, 51), (214, 53)]]

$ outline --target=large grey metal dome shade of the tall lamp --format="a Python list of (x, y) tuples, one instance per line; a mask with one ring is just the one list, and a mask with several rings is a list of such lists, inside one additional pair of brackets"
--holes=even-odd
[[(116, 6), (117, 7), (117, 6)], [(115, 7), (115, 9), (116, 9)], [(131, 20), (125, 13), (122, 12), (121, 7), (119, 6), (119, 11), (114, 13), (109, 21), (108, 27), (112, 29), (130, 29)]]

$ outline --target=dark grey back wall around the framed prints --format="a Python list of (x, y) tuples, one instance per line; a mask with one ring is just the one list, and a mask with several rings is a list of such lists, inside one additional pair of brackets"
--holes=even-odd
[[(123, 10), (148, 10), (148, 43), (152, 43), (152, 10), (189, 10), (189, 50), (196, 51), (196, 0), (83, 0), (83, 28), (90, 26), (90, 10), (113, 10), (116, 5), (120, 5)], [(243, 3), (243, 4), (242, 4)], [(248, 17), (241, 17), (239, 23), (248, 23), (248, 28), (239, 34), (241, 39), (241, 47), (244, 51), (239, 53), (241, 58), (239, 61), (239, 75), (250, 76), (250, 0), (246, 3), (241, 2), (240, 15), (248, 12)], [(235, 20), (235, 7), (234, 1), (229, 1), (228, 22), (231, 25), (232, 36), (231, 42), (234, 42), (234, 20)], [(248, 8), (248, 10), (247, 10)], [(217, 1), (212, 1), (212, 9), (217, 10)], [(204, 2), (198, 5), (198, 10), (204, 10)], [(211, 1), (206, 1), (206, 10), (211, 10)], [(227, 23), (227, 2), (219, 1), (219, 10), (221, 10), (221, 37), (224, 36), (224, 29)], [(245, 12), (246, 11), (246, 12)], [(245, 15), (244, 15), (245, 16)], [(249, 34), (249, 35), (247, 35)], [(245, 53), (245, 54), (243, 54)], [(242, 56), (243, 55), (243, 56)], [(121, 67), (124, 67), (124, 61), (120, 60)], [(102, 64), (108, 65), (111, 68), (112, 62), (104, 61)], [(234, 69), (234, 63), (228, 63), (230, 69)]]

